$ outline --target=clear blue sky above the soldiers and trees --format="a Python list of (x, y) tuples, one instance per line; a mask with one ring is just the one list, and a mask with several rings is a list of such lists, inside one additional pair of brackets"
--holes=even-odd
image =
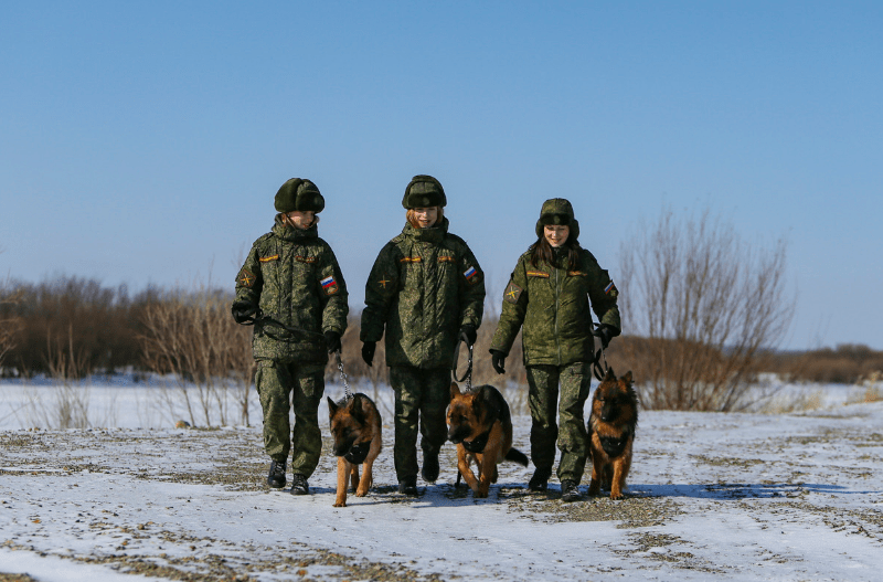
[(302, 177), (359, 309), (430, 173), (493, 293), (546, 198), (614, 278), (710, 205), (788, 240), (787, 347), (883, 349), (883, 3), (6, 2), (0, 80), (12, 278), (232, 288)]

